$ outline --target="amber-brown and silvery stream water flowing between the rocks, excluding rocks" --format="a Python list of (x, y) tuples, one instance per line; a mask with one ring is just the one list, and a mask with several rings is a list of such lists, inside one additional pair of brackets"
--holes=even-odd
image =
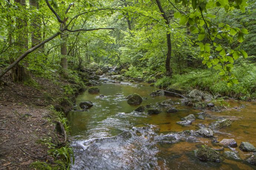
[[(197, 130), (198, 123), (206, 126), (215, 120), (229, 118), (232, 125), (215, 132), (222, 139), (233, 138), (237, 144), (250, 142), (256, 146), (256, 104), (255, 102), (229, 101), (230, 106), (245, 105), (243, 109), (229, 109), (223, 112), (207, 112), (214, 118), (196, 119), (192, 125), (181, 126), (176, 122), (189, 114), (202, 112), (184, 106), (180, 98), (149, 95), (156, 90), (149, 84), (103, 84), (99, 94), (87, 91), (77, 97), (77, 104), (92, 101), (87, 111), (70, 111), (67, 118), (72, 129), (72, 146), (76, 161), (72, 169), (256, 169), (246, 161), (224, 159), (220, 163), (202, 162), (193, 150), (202, 145), (216, 147), (212, 139), (192, 136), (190, 139), (176, 139), (175, 133), (183, 130)], [(124, 99), (138, 93), (146, 97), (142, 105), (151, 105), (163, 110), (158, 115), (134, 112)], [(173, 99), (176, 113), (167, 113), (168, 108), (157, 106), (157, 102)], [(79, 106), (77, 106), (78, 109)], [(242, 126), (241, 126), (242, 125)], [(234, 147), (242, 159), (251, 154)], [(225, 151), (229, 148), (225, 148)], [(223, 154), (223, 151), (220, 151)], [(224, 156), (223, 156), (224, 158)]]

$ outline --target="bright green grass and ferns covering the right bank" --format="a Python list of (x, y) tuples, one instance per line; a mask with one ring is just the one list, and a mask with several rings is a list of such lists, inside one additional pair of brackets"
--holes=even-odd
[(234, 69), (234, 74), (239, 80), (238, 84), (227, 86), (226, 82), (220, 79), (218, 72), (213, 69), (200, 69), (185, 74), (174, 74), (173, 78), (164, 76), (155, 83), (155, 86), (180, 88), (185, 90), (200, 89), (212, 94), (220, 93), (223, 96), (231, 96), (242, 100), (256, 98), (256, 66), (244, 64)]

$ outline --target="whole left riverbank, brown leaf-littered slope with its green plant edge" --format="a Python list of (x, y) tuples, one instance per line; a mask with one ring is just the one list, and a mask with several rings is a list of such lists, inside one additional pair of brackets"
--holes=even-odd
[(13, 82), (9, 74), (1, 79), (0, 169), (29, 169), (39, 160), (63, 169), (66, 162), (61, 157), (56, 162), (49, 149), (68, 144), (58, 126), (68, 129), (64, 112), (72, 109), (75, 96), (84, 89), (82, 82), (61, 76), (54, 81), (33, 77), (20, 83)]

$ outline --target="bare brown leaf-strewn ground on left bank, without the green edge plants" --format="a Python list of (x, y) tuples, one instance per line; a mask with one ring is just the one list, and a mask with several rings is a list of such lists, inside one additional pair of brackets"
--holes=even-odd
[[(34, 78), (34, 81), (40, 85), (40, 89), (15, 83), (10, 75), (2, 79), (0, 170), (29, 169), (29, 164), (38, 160), (25, 154), (21, 149), (35, 157), (52, 159), (47, 155), (49, 148), (42, 142), (43, 139), (56, 136), (55, 125), (50, 119), (53, 115), (44, 93), (60, 96), (63, 91), (60, 86), (47, 79)], [(59, 83), (69, 84), (65, 80)]]

